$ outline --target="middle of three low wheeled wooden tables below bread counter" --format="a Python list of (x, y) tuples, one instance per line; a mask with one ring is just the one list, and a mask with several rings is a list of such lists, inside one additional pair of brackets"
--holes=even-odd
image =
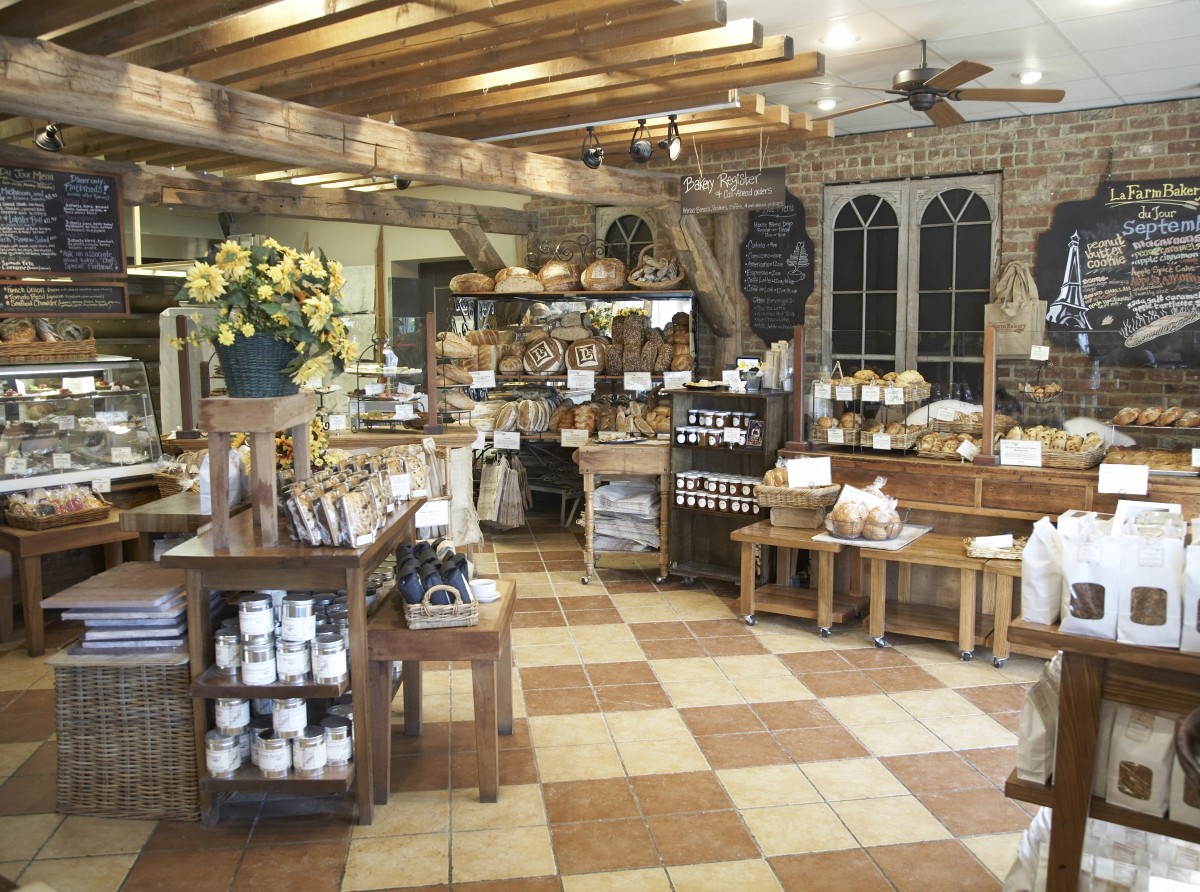
[[(863, 547), (859, 553), (871, 573), (871, 613), (868, 617), (868, 634), (876, 647), (887, 647), (888, 643), (883, 637), (884, 610), (892, 611), (887, 619), (887, 627), (892, 631), (911, 633), (941, 641), (958, 639), (959, 652), (965, 660), (971, 659), (976, 642), (986, 641), (991, 631), (990, 622), (986, 617), (976, 615), (976, 580), (986, 562), (983, 558), (967, 557), (961, 537), (925, 533), (899, 551)], [(889, 562), (899, 564), (900, 585), (896, 601), (886, 606)], [(959, 570), (956, 611), (953, 607), (910, 603), (913, 564)]]

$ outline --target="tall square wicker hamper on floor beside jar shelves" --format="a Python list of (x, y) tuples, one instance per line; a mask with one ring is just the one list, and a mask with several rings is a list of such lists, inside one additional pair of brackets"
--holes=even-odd
[(55, 654), (56, 810), (200, 818), (187, 657)]

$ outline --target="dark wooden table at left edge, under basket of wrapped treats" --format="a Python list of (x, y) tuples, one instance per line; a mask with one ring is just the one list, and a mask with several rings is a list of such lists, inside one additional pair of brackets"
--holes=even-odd
[(121, 543), (136, 539), (120, 525), (120, 511), (113, 510), (104, 520), (74, 523), (53, 529), (18, 529), (0, 526), (0, 641), (12, 639), (12, 562), (20, 567), (20, 604), (25, 612), (25, 649), (30, 657), (46, 652), (46, 629), (42, 617), (42, 558), (72, 549), (101, 545), (104, 549), (104, 567), (112, 569), (125, 556)]

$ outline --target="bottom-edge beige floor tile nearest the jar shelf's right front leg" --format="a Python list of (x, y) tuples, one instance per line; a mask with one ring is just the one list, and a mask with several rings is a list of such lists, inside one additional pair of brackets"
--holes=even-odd
[(450, 836), (421, 833), (352, 839), (342, 892), (438, 886), (450, 878)]

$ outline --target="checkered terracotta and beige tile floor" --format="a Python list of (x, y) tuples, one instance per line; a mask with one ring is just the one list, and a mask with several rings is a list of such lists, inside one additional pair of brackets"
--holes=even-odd
[[(240, 796), (221, 824), (55, 814), (53, 672), (0, 648), (0, 878), (59, 892), (997, 890), (1028, 813), (1004, 798), (1040, 661), (760, 615), (726, 583), (655, 585), (606, 556), (580, 582), (557, 514), (488, 537), (517, 581), (516, 734), (478, 801), (466, 664), (426, 666), (392, 797)], [(76, 629), (52, 625), (50, 649)], [(400, 710), (397, 700), (394, 710)], [(185, 879), (186, 878), (186, 879)], [(4, 884), (0, 882), (0, 887)]]

